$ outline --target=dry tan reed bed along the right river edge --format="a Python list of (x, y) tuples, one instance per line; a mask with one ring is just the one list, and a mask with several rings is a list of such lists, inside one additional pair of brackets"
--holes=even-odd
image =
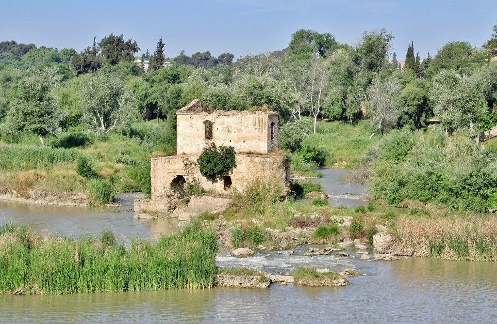
[(409, 218), (393, 223), (390, 253), (456, 260), (497, 259), (497, 219), (475, 216)]

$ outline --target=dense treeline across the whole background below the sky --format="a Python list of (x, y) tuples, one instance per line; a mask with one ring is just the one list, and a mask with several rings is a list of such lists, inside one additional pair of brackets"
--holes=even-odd
[[(282, 125), (310, 116), (314, 131), (319, 119), (354, 123), (364, 117), (381, 133), (417, 130), (430, 118), (447, 132), (473, 135), (497, 123), (495, 34), (483, 48), (453, 41), (422, 61), (413, 42), (403, 69), (396, 53), (390, 60), (392, 37), (386, 30), (364, 32), (350, 46), (330, 33), (302, 29), (286, 49), (236, 63), (233, 54), (215, 58), (208, 51), (167, 59), (162, 38), (142, 57), (135, 57), (136, 41), (114, 34), (94, 39), (81, 53), (1, 42), (0, 133), (4, 141), (20, 132), (43, 140), (63, 130), (174, 122), (174, 112), (197, 98), (224, 110), (267, 105)], [(169, 61), (173, 66), (164, 67)]]

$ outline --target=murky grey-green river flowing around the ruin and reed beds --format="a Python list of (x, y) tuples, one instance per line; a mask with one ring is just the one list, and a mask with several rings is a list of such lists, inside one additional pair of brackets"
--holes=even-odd
[[(364, 188), (348, 186), (340, 169), (321, 171), (332, 204), (364, 204)], [(122, 196), (122, 207), (45, 206), (0, 201), (5, 220), (67, 235), (110, 228), (120, 236), (157, 239), (174, 231), (173, 220), (133, 220), (136, 194)], [(222, 249), (221, 267), (247, 266), (272, 273), (301, 266), (346, 267), (361, 276), (345, 287), (273, 284), (269, 289), (211, 288), (156, 292), (94, 293), (63, 296), (0, 295), (0, 323), (493, 323), (497, 305), (495, 262), (404, 258), (361, 260), (301, 256), (306, 247), (288, 252), (257, 252), (247, 259)], [(368, 250), (373, 253), (372, 250)]]

